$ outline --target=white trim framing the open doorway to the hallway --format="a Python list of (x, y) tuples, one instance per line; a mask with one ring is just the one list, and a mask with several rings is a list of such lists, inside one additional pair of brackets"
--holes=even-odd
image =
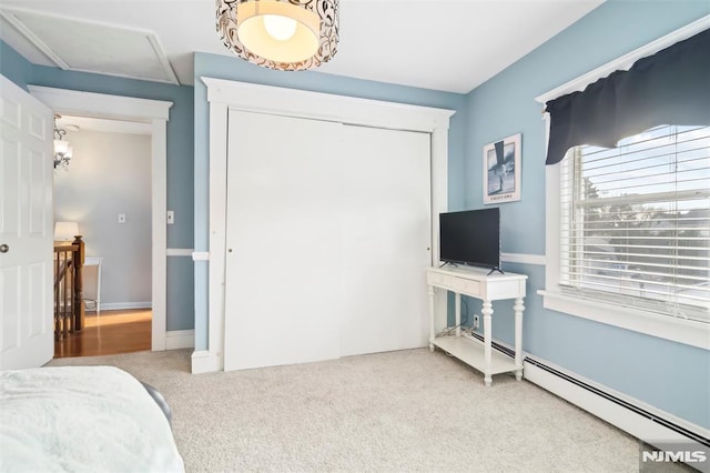
[(150, 123), (152, 127), (152, 350), (165, 350), (168, 250), (168, 120), (173, 102), (28, 85), (55, 113)]

